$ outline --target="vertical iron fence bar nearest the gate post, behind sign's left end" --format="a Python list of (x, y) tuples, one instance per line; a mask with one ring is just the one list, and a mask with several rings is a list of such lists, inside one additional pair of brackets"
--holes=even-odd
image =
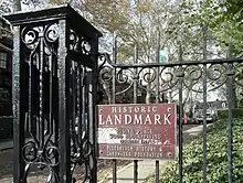
[[(113, 63), (116, 64), (117, 60), (117, 35), (114, 33), (113, 37)], [(113, 67), (113, 93), (112, 93), (112, 104), (116, 103), (116, 67)], [(117, 162), (113, 160), (113, 183), (117, 182)]]

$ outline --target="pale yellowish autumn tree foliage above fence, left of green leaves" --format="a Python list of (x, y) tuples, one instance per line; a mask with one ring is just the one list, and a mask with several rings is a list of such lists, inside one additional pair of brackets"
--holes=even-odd
[[(75, 2), (77, 1), (72, 1), (72, 3)], [(178, 2), (172, 3), (167, 0), (108, 0), (98, 3), (96, 0), (83, 0), (78, 2), (81, 2), (80, 6), (75, 3), (75, 8), (104, 34), (109, 34), (107, 39), (101, 40), (103, 45), (107, 42), (110, 43), (110, 34), (113, 33), (119, 36), (119, 43), (136, 42), (139, 49), (140, 62), (156, 62), (157, 42), (160, 42), (161, 49), (173, 43), (172, 40), (177, 30), (169, 35), (167, 29), (168, 23), (173, 22), (179, 17)], [(62, 3), (62, 0), (60, 0), (60, 3)], [(109, 49), (108, 46), (106, 49), (110, 51), (110, 46), (112, 44), (109, 44)], [(124, 55), (120, 60), (118, 57), (119, 62), (133, 57), (134, 53), (127, 54), (126, 50), (133, 51), (134, 44), (120, 49), (119, 53)], [(171, 50), (171, 55), (172, 52)]]

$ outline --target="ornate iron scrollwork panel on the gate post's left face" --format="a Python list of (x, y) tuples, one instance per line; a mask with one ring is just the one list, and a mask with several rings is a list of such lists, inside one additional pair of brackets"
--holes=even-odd
[[(56, 168), (60, 150), (55, 139), (56, 114), (53, 112), (53, 80), (56, 79), (56, 44), (59, 25), (24, 26), (21, 32), (25, 61), (29, 67), (29, 111), (25, 115), (25, 139), (22, 158), (25, 161), (24, 177), (32, 165), (49, 169), (47, 182), (59, 181)], [(49, 106), (49, 107), (47, 107)], [(54, 117), (55, 116), (55, 117)]]

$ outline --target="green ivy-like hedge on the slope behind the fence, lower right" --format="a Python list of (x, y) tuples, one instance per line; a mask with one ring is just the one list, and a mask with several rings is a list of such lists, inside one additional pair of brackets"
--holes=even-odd
[[(208, 129), (207, 134), (207, 177), (210, 183), (228, 182), (228, 131), (224, 120), (216, 121)], [(233, 121), (233, 182), (243, 182), (243, 118), (235, 118)], [(202, 134), (183, 148), (183, 182), (203, 182), (202, 164)], [(167, 163), (161, 169), (161, 183), (178, 183), (179, 170), (178, 160)], [(154, 182), (148, 179), (147, 182)]]

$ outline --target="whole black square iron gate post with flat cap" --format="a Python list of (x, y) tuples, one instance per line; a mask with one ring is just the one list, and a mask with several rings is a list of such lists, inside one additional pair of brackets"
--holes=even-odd
[(28, 182), (36, 165), (47, 170), (47, 182), (75, 182), (82, 164), (84, 179), (94, 182), (102, 34), (70, 6), (6, 18), (14, 37), (13, 182)]

